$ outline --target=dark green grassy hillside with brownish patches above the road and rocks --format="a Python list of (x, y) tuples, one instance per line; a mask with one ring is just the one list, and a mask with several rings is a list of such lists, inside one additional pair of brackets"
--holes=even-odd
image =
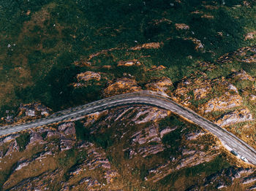
[[(200, 0), (0, 1), (1, 114), (21, 102), (40, 101), (57, 111), (99, 99), (108, 81), (75, 89), (75, 75), (82, 71), (104, 72), (108, 80), (127, 72), (141, 85), (162, 76), (177, 82), (192, 72), (187, 66), (214, 62), (226, 52), (255, 43), (244, 41), (256, 26), (255, 2), (249, 3), (251, 7), (236, 6), (242, 1), (226, 1), (225, 6), (222, 1)], [(177, 30), (176, 23), (189, 29)], [(195, 50), (192, 39), (203, 47)], [(130, 49), (148, 42), (163, 44), (159, 49)], [(88, 59), (110, 48), (115, 50)], [(72, 64), (80, 58), (92, 67)], [(118, 61), (133, 59), (143, 66), (116, 67)], [(113, 67), (103, 69), (104, 65)], [(144, 71), (153, 65), (167, 69)], [(238, 68), (252, 70), (251, 64)], [(218, 74), (228, 70), (220, 67)]]

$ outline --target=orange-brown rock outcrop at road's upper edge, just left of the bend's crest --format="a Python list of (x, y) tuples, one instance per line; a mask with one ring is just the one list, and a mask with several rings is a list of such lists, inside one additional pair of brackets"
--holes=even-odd
[(129, 79), (127, 77), (119, 78), (116, 82), (110, 83), (108, 87), (103, 90), (103, 95), (105, 97), (110, 97), (111, 95), (118, 95), (120, 93), (130, 93), (140, 91), (141, 87), (138, 86), (135, 79)]

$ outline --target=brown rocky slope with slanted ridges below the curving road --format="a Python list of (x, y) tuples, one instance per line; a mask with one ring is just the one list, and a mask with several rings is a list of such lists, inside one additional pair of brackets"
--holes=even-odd
[[(238, 168), (214, 136), (151, 106), (3, 136), (0, 148), (2, 190), (252, 190), (256, 182), (255, 170)], [(176, 174), (186, 183), (177, 186)]]

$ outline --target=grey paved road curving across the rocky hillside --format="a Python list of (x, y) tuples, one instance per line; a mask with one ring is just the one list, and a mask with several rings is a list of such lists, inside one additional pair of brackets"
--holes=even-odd
[(244, 156), (249, 160), (249, 163), (256, 165), (256, 151), (249, 144), (238, 139), (233, 133), (228, 132), (225, 129), (220, 128), (213, 122), (206, 120), (200, 115), (196, 114), (190, 109), (186, 109), (183, 106), (176, 104), (176, 102), (171, 101), (168, 98), (164, 98), (157, 94), (152, 94), (148, 92), (139, 93), (127, 93), (116, 95), (110, 98), (105, 98), (99, 101), (94, 101), (91, 104), (86, 104), (83, 106), (78, 106), (72, 109), (66, 109), (56, 114), (50, 115), (49, 117), (42, 118), (40, 120), (34, 120), (31, 122), (26, 122), (19, 125), (8, 125), (0, 127), (0, 136), (9, 133), (15, 133), (21, 130), (26, 130), (29, 128), (36, 128), (42, 125), (48, 125), (54, 122), (59, 122), (63, 120), (70, 120), (83, 116), (85, 114), (90, 114), (93, 112), (99, 112), (105, 109), (110, 109), (115, 106), (127, 105), (127, 104), (146, 104), (151, 106), (157, 106), (163, 109), (170, 110), (176, 114), (191, 120), (195, 124), (199, 125), (201, 128), (208, 130), (217, 136), (222, 144), (229, 150), (235, 150), (238, 155)]

